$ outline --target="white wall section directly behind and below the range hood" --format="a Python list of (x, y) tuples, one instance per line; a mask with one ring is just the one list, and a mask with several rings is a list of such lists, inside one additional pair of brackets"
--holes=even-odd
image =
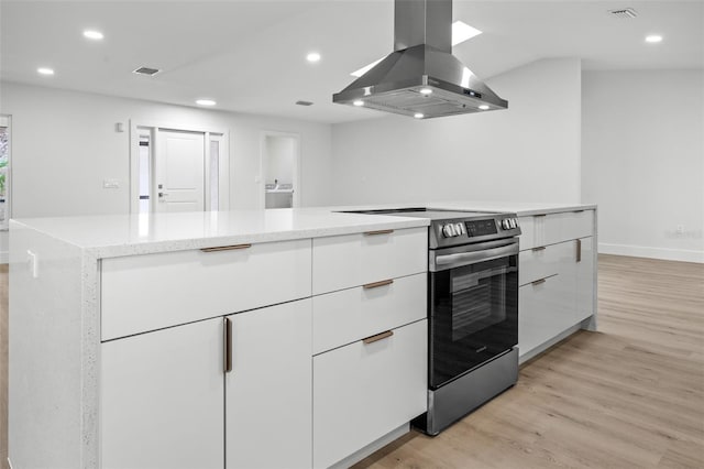
[(580, 201), (580, 61), (538, 61), (487, 84), (508, 110), (333, 126), (334, 203)]

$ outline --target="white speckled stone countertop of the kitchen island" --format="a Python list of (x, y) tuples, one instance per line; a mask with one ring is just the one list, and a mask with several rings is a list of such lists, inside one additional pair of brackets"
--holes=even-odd
[(518, 216), (596, 208), (595, 205), (454, 200), (270, 210), (26, 218), (12, 220), (11, 226), (14, 230), (22, 227), (35, 229), (100, 259), (426, 227), (430, 223), (425, 218), (339, 212), (408, 207), (509, 211)]

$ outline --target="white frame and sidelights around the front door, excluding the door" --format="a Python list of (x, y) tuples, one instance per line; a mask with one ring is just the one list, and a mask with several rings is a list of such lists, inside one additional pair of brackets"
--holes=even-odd
[[(228, 210), (230, 208), (230, 135), (227, 130), (206, 128), (197, 124), (185, 126), (165, 122), (142, 122), (130, 119), (130, 214), (140, 212), (140, 134), (143, 134), (144, 130), (148, 130), (150, 132), (150, 165), (152, 171), (151, 176), (153, 177), (154, 154), (157, 151), (160, 129), (204, 134), (205, 211), (210, 210), (210, 142), (213, 140), (219, 142), (218, 206), (220, 210)], [(152, 193), (155, 193), (153, 184)], [(153, 194), (150, 194), (150, 208), (152, 209), (153, 204), (154, 197)]]

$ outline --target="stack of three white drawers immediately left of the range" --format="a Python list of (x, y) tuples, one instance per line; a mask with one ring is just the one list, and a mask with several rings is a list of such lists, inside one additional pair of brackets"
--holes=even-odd
[(426, 228), (314, 240), (314, 467), (427, 410)]

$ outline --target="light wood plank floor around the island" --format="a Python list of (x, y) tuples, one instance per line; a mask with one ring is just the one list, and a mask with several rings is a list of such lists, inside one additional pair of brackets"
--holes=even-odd
[[(600, 255), (598, 273), (598, 332), (531, 360), (440, 436), (411, 432), (355, 469), (704, 468), (704, 264)], [(6, 330), (0, 268), (2, 461)]]

